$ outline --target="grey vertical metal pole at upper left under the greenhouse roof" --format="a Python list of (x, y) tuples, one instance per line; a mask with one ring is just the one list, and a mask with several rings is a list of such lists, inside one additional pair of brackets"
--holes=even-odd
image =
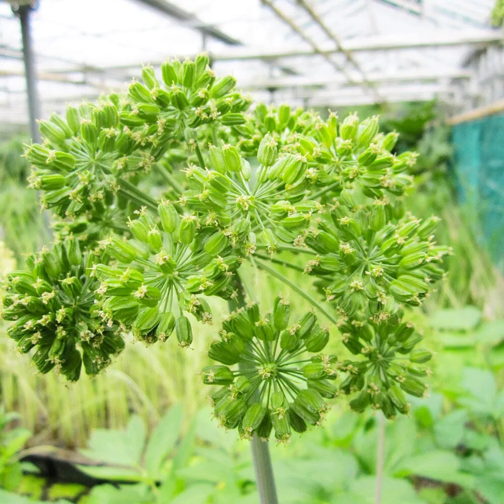
[(36, 119), (40, 117), (40, 102), (37, 93), (35, 72), (35, 58), (30, 33), (31, 5), (20, 5), (14, 12), (21, 22), (21, 35), (23, 39), (23, 60), (25, 63), (26, 94), (28, 99), (28, 113), (30, 116), (30, 133), (34, 142), (40, 142), (40, 134)]

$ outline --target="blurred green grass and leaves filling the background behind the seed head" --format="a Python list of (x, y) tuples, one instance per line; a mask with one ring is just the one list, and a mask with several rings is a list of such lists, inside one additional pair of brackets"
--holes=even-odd
[[(502, 504), (504, 281), (479, 241), (477, 212), (457, 201), (450, 129), (436, 102), (358, 112), (379, 114), (386, 133), (397, 131), (398, 152), (420, 153), (408, 210), (420, 218), (440, 216), (436, 239), (454, 251), (437, 291), (410, 313), (436, 352), (431, 393), (412, 398), (409, 418), (387, 422), (381, 502)], [(37, 195), (26, 188), (24, 141), (0, 146), (0, 273), (14, 263), (22, 266), (23, 254), (50, 241)], [(302, 258), (291, 260), (303, 266)], [(283, 273), (290, 275), (288, 269)], [(244, 280), (259, 301), (271, 302), (282, 290), (253, 268)], [(304, 309), (294, 292), (282, 292)], [(215, 308), (227, 309), (224, 303)], [(198, 373), (207, 364), (214, 330), (198, 325), (189, 351), (174, 340), (151, 347), (130, 342), (106, 373), (67, 384), (56, 375), (37, 374), (0, 326), (0, 501), (257, 502), (247, 443), (218, 429), (202, 410), (207, 391)], [(330, 351), (338, 353), (333, 333)], [(272, 450), (282, 504), (375, 501), (380, 419), (356, 415), (342, 404), (336, 399), (324, 427)], [(46, 445), (77, 452), (87, 447), (78, 453), (109, 465), (73, 461), (74, 472), (62, 473), (73, 474), (73, 480), (54, 481), (27, 462), (30, 454), (53, 453)]]

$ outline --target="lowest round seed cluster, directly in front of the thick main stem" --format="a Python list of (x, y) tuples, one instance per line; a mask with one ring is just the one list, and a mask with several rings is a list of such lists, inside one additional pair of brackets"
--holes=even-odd
[[(282, 297), (263, 317), (249, 303), (230, 314), (210, 346), (209, 356), (222, 365), (205, 367), (203, 382), (220, 386), (212, 395), (215, 415), (243, 438), (268, 439), (274, 430), (277, 440), (287, 442), (291, 430), (318, 425), (328, 409), (325, 398), (337, 395), (333, 381), (340, 363), (318, 353), (329, 330), (312, 312), (291, 326), (289, 319), (290, 305)], [(233, 371), (229, 366), (235, 364)]]

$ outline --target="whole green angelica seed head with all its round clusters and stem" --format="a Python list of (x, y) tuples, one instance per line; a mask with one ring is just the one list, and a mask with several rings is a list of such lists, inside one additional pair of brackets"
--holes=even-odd
[[(394, 418), (407, 394), (426, 393), (431, 355), (404, 316), (449, 249), (435, 243), (435, 217), (405, 213), (416, 156), (392, 154), (397, 135), (377, 117), (250, 106), (200, 55), (40, 121), (43, 142), (25, 155), (55, 214), (54, 246), (7, 275), (3, 316), (41, 372), (72, 381), (82, 365), (103, 370), (129, 332), (148, 344), (174, 332), (190, 347), (195, 324), (215, 323), (208, 298), (228, 300), (202, 380), (221, 424), (268, 465), (257, 440), (319, 425), (338, 395)], [(294, 290), (305, 315), (291, 320), (281, 296), (247, 301), (244, 263)], [(330, 334), (348, 355), (324, 353)], [(262, 501), (276, 502), (264, 474)]]

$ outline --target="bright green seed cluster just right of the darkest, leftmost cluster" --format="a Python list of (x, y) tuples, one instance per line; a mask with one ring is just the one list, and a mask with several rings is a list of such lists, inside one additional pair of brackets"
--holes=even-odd
[(129, 221), (133, 238), (110, 236), (100, 243), (111, 258), (90, 272), (102, 280), (96, 289), (104, 299), (101, 316), (147, 342), (164, 341), (175, 329), (180, 344), (189, 346), (193, 334), (183, 312), (210, 322), (210, 306), (198, 295), (233, 297), (240, 259), (218, 228), (180, 215), (169, 202), (159, 205), (157, 215), (145, 208), (139, 214)]

